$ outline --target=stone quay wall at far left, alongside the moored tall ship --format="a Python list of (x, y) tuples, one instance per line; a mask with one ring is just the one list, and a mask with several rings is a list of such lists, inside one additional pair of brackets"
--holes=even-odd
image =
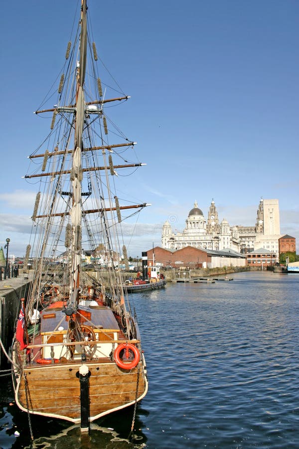
[[(26, 297), (29, 285), (30, 279), (23, 276), (0, 281), (0, 339), (6, 352), (11, 345), (20, 298)], [(6, 356), (1, 349), (0, 368), (3, 368), (6, 362)]]

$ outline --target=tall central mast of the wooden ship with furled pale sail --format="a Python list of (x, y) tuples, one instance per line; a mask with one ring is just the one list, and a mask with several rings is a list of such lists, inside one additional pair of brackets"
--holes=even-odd
[(76, 88), (76, 118), (73, 163), (71, 169), (72, 183), (72, 209), (70, 211), (72, 224), (72, 246), (71, 246), (71, 276), (69, 285), (69, 297), (71, 309), (77, 308), (78, 288), (80, 283), (80, 261), (81, 261), (81, 237), (82, 237), (82, 208), (81, 208), (81, 183), (82, 167), (81, 152), (83, 148), (82, 134), (85, 115), (84, 79), (86, 68), (87, 48), (87, 19), (86, 0), (81, 1), (81, 33), (80, 33), (80, 56), (77, 64), (77, 88)]

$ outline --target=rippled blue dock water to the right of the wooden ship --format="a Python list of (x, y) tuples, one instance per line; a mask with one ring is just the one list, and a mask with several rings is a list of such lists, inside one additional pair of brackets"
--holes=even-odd
[(149, 448), (299, 447), (298, 286), (240, 273), (136, 299)]

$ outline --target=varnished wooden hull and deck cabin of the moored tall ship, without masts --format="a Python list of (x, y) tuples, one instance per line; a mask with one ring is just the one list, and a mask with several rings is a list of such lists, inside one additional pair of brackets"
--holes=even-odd
[[(62, 307), (53, 303), (41, 314), (41, 332), (34, 345), (28, 345), (23, 351), (15, 346), (14, 366), (19, 369), (14, 370), (13, 385), (21, 410), (80, 423), (83, 405), (88, 407), (88, 419), (92, 422), (134, 405), (146, 395), (148, 379), (144, 355), (139, 356), (140, 340), (125, 338), (111, 309), (102, 305), (91, 307), (77, 312), (81, 342), (71, 341), (69, 319)], [(88, 326), (92, 314), (96, 323), (93, 328)], [(51, 331), (57, 323), (60, 330)], [(135, 329), (139, 337), (137, 323)], [(113, 354), (118, 345), (135, 347), (138, 363), (131, 351), (127, 360), (116, 359)], [(80, 390), (82, 366), (86, 367), (88, 377), (85, 404)]]

